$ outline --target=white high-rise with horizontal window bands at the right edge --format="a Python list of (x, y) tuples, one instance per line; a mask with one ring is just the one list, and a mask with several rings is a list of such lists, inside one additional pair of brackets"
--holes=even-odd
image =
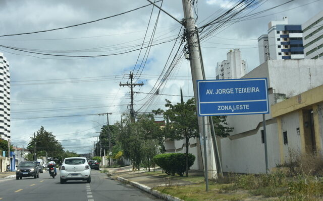
[(323, 57), (323, 11), (302, 24), (305, 59)]

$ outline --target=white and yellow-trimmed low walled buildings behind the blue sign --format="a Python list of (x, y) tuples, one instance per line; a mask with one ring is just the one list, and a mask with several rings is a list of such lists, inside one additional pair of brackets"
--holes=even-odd
[[(303, 153), (301, 150), (312, 143), (308, 136), (316, 136), (315, 149), (321, 151), (323, 99), (313, 94), (323, 89), (323, 60), (269, 60), (242, 78), (257, 77), (268, 80), (271, 106), (270, 114), (265, 115), (268, 167), (289, 162), (290, 151)], [(311, 111), (316, 111), (312, 123)], [(308, 127), (303, 126), (304, 122), (308, 122)], [(223, 171), (265, 173), (262, 115), (228, 116), (227, 123), (234, 130), (220, 140)], [(309, 132), (311, 124), (315, 124), (315, 134)], [(302, 141), (303, 136), (307, 140)]]

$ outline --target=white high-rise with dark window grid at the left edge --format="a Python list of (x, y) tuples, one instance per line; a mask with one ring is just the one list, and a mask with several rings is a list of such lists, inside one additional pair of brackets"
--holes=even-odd
[(0, 139), (8, 140), (10, 135), (10, 73), (9, 62), (0, 52)]

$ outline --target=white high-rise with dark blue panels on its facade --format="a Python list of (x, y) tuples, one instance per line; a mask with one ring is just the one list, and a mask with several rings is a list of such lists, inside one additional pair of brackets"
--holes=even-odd
[(302, 37), (301, 25), (289, 25), (287, 17), (271, 21), (268, 34), (258, 38), (260, 64), (267, 59), (304, 59)]

